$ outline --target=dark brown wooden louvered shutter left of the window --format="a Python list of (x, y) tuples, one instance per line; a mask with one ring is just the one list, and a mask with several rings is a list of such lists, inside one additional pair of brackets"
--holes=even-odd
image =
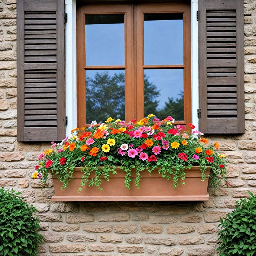
[(65, 137), (64, 0), (17, 1), (17, 140)]

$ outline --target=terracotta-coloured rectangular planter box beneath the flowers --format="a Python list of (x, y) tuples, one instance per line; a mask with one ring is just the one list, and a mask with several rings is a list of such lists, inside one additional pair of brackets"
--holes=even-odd
[[(174, 188), (172, 180), (162, 178), (157, 171), (149, 175), (148, 171), (142, 171), (140, 189), (135, 187), (135, 172), (132, 172), (131, 188), (128, 190), (124, 185), (125, 173), (118, 170), (116, 175), (110, 175), (110, 181), (102, 179), (102, 191), (98, 187), (84, 186), (78, 193), (81, 181), (81, 167), (76, 167), (74, 178), (68, 185), (68, 188), (61, 190), (62, 183), (57, 177), (53, 178), (55, 196), (52, 201), (207, 201), (208, 175), (210, 167), (207, 167), (205, 175), (206, 181), (201, 181), (201, 171), (198, 166), (192, 169), (186, 169), (185, 185), (179, 185)], [(93, 177), (93, 175), (91, 176)]]

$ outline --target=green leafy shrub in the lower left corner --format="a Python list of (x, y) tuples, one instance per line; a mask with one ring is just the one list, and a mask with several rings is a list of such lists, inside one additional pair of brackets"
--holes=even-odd
[(37, 209), (22, 201), (21, 192), (0, 188), (0, 256), (36, 256), (43, 236), (38, 234)]

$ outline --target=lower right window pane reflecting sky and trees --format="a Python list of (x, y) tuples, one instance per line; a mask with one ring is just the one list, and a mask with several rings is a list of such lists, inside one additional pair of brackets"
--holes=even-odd
[(144, 113), (183, 121), (183, 69), (144, 70)]

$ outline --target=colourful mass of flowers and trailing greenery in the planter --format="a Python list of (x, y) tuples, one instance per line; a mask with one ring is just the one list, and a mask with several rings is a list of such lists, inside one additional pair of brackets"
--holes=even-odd
[(188, 126), (191, 130), (185, 132), (185, 126), (175, 125), (171, 116), (160, 121), (154, 114), (129, 123), (112, 117), (100, 125), (93, 121), (90, 127), (71, 130), (71, 135), (61, 143), (52, 142), (52, 149), (39, 155), (33, 178), (45, 183), (49, 174), (57, 175), (64, 189), (73, 178), (74, 167), (82, 166), (81, 187), (98, 186), (102, 190), (102, 177), (109, 180), (110, 173), (116, 174), (116, 167), (120, 166), (126, 172), (127, 188), (130, 188), (131, 169), (135, 169), (135, 185), (139, 188), (140, 172), (146, 169), (151, 173), (157, 168), (163, 178), (172, 179), (177, 187), (180, 179), (185, 184), (184, 169), (197, 165), (202, 181), (206, 179), (206, 167), (210, 166), (212, 186), (217, 187), (222, 179), (228, 185), (228, 161), (216, 151), (219, 144), (208, 145), (208, 140), (193, 124)]

